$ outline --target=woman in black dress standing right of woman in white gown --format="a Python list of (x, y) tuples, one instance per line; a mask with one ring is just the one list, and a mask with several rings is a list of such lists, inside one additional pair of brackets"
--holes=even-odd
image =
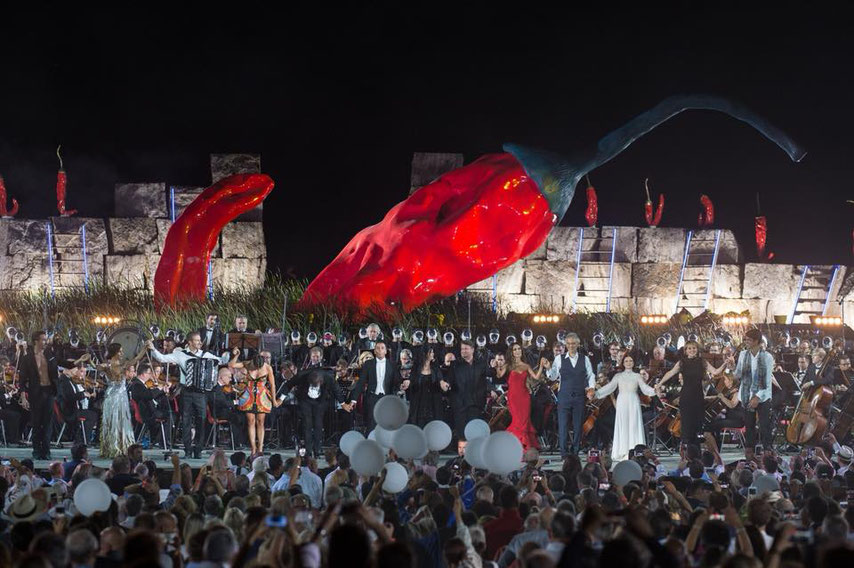
[(679, 393), (679, 415), (682, 419), (683, 443), (697, 443), (697, 437), (702, 432), (705, 411), (703, 380), (709, 375), (721, 373), (728, 363), (729, 361), (724, 361), (720, 368), (715, 369), (711, 363), (700, 357), (700, 346), (697, 342), (689, 341), (685, 344), (682, 357), (676, 365), (655, 385), (656, 393), (662, 396), (661, 389), (667, 381), (677, 374), (682, 381), (682, 390)]

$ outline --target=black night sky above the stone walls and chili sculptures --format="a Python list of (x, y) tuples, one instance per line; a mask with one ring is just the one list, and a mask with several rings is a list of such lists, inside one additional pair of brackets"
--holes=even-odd
[[(852, 264), (851, 8), (690, 5), (4, 18), (0, 173), (19, 216), (53, 214), (62, 142), (69, 206), (108, 216), (116, 182), (205, 185), (208, 154), (261, 153), (276, 181), (270, 267), (311, 278), (406, 196), (414, 151), (570, 152), (666, 96), (711, 93), (766, 116), (805, 161), (724, 115), (686, 113), (591, 174), (600, 223), (643, 225), (649, 177), (664, 226), (695, 226), (706, 193), (752, 259), (761, 192), (777, 260)], [(563, 224), (582, 224), (584, 206), (582, 191)]]

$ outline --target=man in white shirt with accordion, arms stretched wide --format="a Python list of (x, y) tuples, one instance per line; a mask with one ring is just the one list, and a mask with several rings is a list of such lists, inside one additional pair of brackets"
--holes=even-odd
[[(165, 342), (164, 342), (165, 344)], [(193, 358), (213, 359), (219, 364), (225, 365), (229, 362), (229, 353), (222, 356), (214, 355), (202, 349), (202, 336), (198, 331), (187, 334), (187, 348), (175, 349), (170, 354), (164, 354), (154, 347), (154, 342), (149, 340), (146, 344), (151, 351), (151, 356), (161, 363), (172, 363), (180, 370), (181, 384), (181, 429), (183, 434), (185, 457), (200, 459), (202, 457), (202, 444), (205, 441), (205, 428), (207, 426), (206, 408), (207, 401), (205, 392), (189, 383), (187, 377), (187, 364)], [(193, 430), (195, 429), (195, 446), (193, 445)]]

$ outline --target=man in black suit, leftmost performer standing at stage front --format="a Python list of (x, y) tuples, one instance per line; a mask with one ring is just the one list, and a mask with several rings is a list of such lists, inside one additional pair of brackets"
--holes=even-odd
[(32, 411), (33, 423), (33, 459), (50, 459), (50, 438), (53, 435), (53, 403), (59, 374), (56, 356), (47, 346), (47, 334), (36, 331), (32, 335), (32, 344), (22, 343), (18, 348), (24, 353), (18, 370), (21, 388), (27, 394), (27, 402)]

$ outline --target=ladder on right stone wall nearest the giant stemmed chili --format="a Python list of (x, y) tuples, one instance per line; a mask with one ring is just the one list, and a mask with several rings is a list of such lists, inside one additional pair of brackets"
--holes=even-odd
[[(611, 287), (614, 281), (614, 260), (617, 253), (618, 228), (579, 227), (578, 252), (575, 257), (575, 289), (572, 292), (572, 311), (611, 313)], [(590, 247), (585, 248), (585, 243)], [(604, 274), (607, 273), (607, 276)]]

